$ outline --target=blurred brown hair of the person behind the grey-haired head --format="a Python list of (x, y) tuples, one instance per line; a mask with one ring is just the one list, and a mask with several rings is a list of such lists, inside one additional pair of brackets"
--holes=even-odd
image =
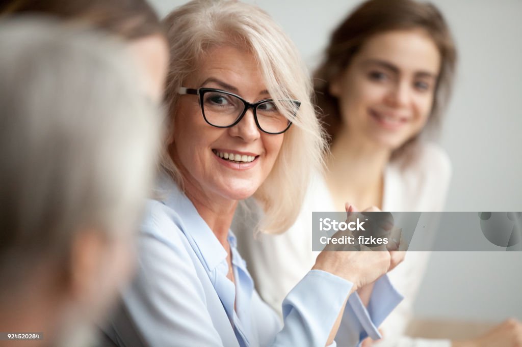
[(126, 40), (163, 34), (156, 12), (145, 0), (0, 1), (0, 17), (48, 15), (85, 23)]

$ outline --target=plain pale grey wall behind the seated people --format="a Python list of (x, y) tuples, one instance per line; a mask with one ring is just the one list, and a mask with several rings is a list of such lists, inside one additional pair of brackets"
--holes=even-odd
[[(186, 1), (149, 0), (161, 16)], [(281, 24), (313, 69), (336, 24), (359, 1), (247, 1)], [(459, 49), (441, 144), (453, 163), (447, 210), (522, 210), (522, 0), (433, 0)], [(522, 319), (522, 252), (437, 252), (415, 313)]]

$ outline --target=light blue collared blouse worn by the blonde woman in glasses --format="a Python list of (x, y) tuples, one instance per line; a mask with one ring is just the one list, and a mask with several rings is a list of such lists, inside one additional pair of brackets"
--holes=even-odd
[[(227, 278), (227, 252), (192, 202), (169, 178), (160, 188), (165, 199), (148, 202), (137, 276), (103, 329), (106, 337), (133, 347), (326, 344), (351, 282), (311, 270), (284, 300), (282, 325), (255, 291), (234, 234), (228, 240), (235, 287)], [(401, 299), (386, 276), (376, 282), (368, 309), (356, 293), (350, 295), (338, 345), (378, 339), (376, 326)]]

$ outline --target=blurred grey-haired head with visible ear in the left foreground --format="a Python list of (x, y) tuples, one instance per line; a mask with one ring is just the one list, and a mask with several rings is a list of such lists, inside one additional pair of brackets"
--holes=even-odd
[(100, 33), (0, 23), (3, 331), (60, 344), (131, 274), (161, 117), (128, 56)]

